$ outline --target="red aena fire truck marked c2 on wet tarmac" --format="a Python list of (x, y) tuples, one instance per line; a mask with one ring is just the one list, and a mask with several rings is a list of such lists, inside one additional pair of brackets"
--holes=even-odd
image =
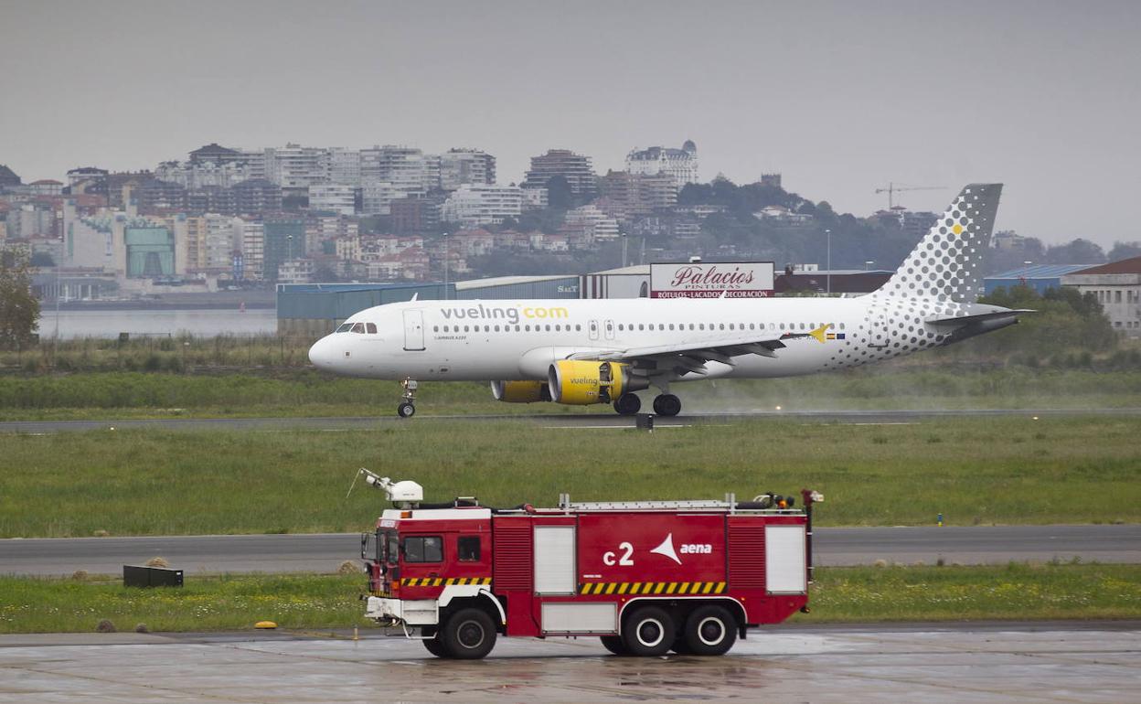
[[(823, 496), (575, 503), (423, 503), (366, 469), (396, 508), (364, 533), (365, 616), (437, 657), (497, 636), (598, 637), (615, 655), (722, 655), (746, 629), (808, 610), (812, 504)], [(399, 634), (397, 631), (395, 634)]]

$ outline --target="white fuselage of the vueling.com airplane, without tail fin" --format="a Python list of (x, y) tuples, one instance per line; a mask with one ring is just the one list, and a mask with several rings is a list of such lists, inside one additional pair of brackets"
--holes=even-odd
[[(673, 381), (790, 377), (938, 345), (944, 335), (924, 330), (922, 316), (947, 305), (880, 294), (853, 299), (408, 301), (354, 314), (339, 327), (343, 332), (314, 345), (310, 358), (322, 369), (377, 379), (545, 380), (552, 362), (592, 350), (715, 345), (830, 325), (823, 343), (812, 338), (791, 339), (774, 357), (741, 355), (733, 365), (710, 362), (707, 374), (685, 374)], [(908, 319), (895, 324), (903, 316)], [(357, 323), (362, 332), (351, 331)]]

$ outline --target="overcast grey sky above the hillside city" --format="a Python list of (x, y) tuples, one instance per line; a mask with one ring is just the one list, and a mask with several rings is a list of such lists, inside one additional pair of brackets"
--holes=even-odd
[(1141, 2), (0, 0), (0, 163), (25, 181), (203, 144), (552, 147), (779, 171), (867, 215), (1003, 181), (997, 227), (1141, 240)]

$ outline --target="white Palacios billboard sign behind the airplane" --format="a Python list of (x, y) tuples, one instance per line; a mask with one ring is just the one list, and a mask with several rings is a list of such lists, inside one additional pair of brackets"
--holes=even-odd
[(769, 298), (771, 261), (652, 264), (650, 298)]

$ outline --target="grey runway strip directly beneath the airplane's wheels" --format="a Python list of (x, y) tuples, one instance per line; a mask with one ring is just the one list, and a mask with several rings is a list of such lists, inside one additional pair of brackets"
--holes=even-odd
[[(730, 423), (745, 420), (792, 419), (804, 422), (833, 423), (917, 423), (940, 418), (987, 418), (1017, 416), (1047, 418), (1071, 415), (1138, 416), (1141, 407), (1130, 408), (957, 408), (957, 410), (911, 410), (911, 411), (794, 411), (772, 408), (750, 408), (734, 413), (693, 413), (674, 418), (655, 416), (656, 428), (685, 427), (709, 423)], [(152, 420), (74, 420), (74, 421), (5, 421), (0, 432), (76, 432), (90, 430), (357, 430), (388, 423), (450, 423), (450, 422), (517, 422), (548, 428), (633, 428), (632, 416), (613, 413), (528, 413), (499, 415), (429, 415), (421, 413), (411, 419), (395, 414), (343, 418), (164, 418)]]

